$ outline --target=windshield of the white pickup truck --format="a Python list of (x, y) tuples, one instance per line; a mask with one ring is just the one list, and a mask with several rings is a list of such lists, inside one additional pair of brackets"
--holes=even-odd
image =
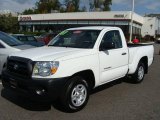
[(100, 30), (65, 30), (53, 38), (49, 46), (93, 48)]

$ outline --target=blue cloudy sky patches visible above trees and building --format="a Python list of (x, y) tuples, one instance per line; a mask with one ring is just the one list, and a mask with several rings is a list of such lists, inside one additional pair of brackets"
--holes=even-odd
[[(11, 10), (22, 12), (25, 9), (33, 8), (37, 0), (0, 0), (0, 10)], [(82, 0), (85, 4), (89, 0)], [(112, 11), (130, 11), (132, 0), (112, 0)], [(135, 0), (135, 12), (144, 15), (150, 13), (160, 14), (160, 0)]]

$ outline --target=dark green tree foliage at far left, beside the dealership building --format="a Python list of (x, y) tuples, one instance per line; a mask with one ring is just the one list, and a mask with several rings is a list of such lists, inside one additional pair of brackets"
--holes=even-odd
[(18, 18), (9, 15), (0, 15), (0, 31), (15, 33), (19, 29)]

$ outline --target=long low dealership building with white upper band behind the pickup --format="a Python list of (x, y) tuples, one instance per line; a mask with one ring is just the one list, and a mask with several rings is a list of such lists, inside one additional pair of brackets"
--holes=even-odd
[[(131, 11), (50, 13), (18, 16), (20, 31), (62, 31), (80, 26), (118, 26), (127, 38), (130, 34)], [(141, 35), (144, 17), (134, 13), (133, 34)]]

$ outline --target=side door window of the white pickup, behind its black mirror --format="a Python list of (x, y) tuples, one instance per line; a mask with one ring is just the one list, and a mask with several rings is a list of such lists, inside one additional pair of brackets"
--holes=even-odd
[(112, 49), (122, 48), (122, 39), (121, 39), (119, 31), (112, 30), (112, 31), (106, 32), (105, 35), (103, 36), (100, 46), (102, 46), (102, 44), (104, 43), (108, 43), (108, 44), (113, 43), (114, 48)]

